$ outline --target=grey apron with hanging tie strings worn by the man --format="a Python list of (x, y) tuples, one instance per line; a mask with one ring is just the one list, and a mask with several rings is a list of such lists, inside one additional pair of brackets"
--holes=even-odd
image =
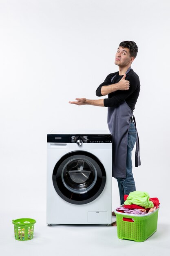
[[(126, 74), (130, 71), (130, 69), (131, 67), (127, 70)], [(112, 81), (114, 77), (112, 78)], [(126, 101), (117, 107), (108, 107), (108, 128), (113, 135), (112, 176), (115, 178), (126, 177), (128, 130), (130, 127), (132, 114), (133, 112)], [(139, 137), (137, 134), (135, 166), (137, 167), (140, 164)]]

